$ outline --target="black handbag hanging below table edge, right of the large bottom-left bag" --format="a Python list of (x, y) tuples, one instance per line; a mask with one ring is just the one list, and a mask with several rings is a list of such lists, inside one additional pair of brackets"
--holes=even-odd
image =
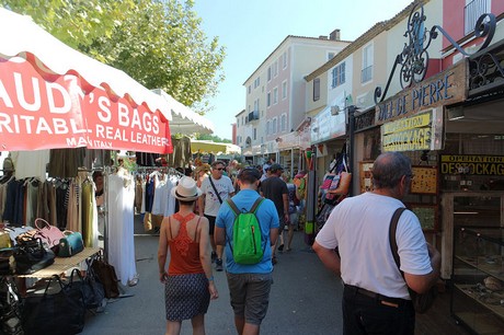
[(94, 272), (90, 266), (88, 266), (84, 277), (82, 277), (78, 268), (75, 268), (71, 272), (68, 286), (77, 287), (82, 291), (84, 305), (88, 310), (96, 310), (102, 307), (103, 299), (105, 299), (105, 290), (103, 289), (103, 285), (96, 280)]

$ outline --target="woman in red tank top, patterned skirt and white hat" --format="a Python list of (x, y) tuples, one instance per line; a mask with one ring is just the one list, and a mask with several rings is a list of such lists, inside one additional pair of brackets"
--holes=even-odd
[[(172, 188), (180, 210), (164, 217), (158, 250), (160, 280), (164, 284), (167, 333), (181, 333), (183, 320), (191, 319), (193, 334), (205, 334), (205, 313), (210, 299), (219, 297), (211, 275), (208, 220), (196, 216), (194, 203), (201, 196), (196, 182), (184, 176)], [(170, 252), (168, 273), (164, 268)]]

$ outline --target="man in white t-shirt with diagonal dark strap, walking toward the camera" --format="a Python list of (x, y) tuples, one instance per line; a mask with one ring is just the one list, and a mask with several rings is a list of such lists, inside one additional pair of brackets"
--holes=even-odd
[(211, 174), (202, 181), (202, 196), (198, 199), (198, 211), (209, 222), (209, 234), (211, 244), (211, 261), (215, 268), (222, 270), (222, 247), (214, 240), (215, 218), (224, 201), (234, 195), (234, 187), (228, 176), (222, 175), (225, 164), (222, 161), (211, 163)]

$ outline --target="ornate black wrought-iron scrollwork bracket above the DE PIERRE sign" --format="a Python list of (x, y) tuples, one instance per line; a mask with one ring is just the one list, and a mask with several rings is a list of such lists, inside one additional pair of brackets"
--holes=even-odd
[[(404, 33), (404, 37), (408, 37), (409, 43), (404, 43), (402, 53), (396, 57), (393, 62), (392, 71), (390, 72), (385, 91), (381, 92), (381, 86), (375, 89), (375, 104), (381, 103), (387, 96), (387, 92), (392, 81), (396, 68), (400, 66), (400, 83), (401, 88), (405, 89), (414, 83), (419, 83), (425, 79), (428, 67), (428, 47), (431, 42), (438, 36), (440, 32), (451, 45), (463, 56), (471, 56), (468, 54), (454, 38), (439, 25), (434, 25), (431, 31), (424, 26), (426, 16), (424, 14), (423, 5), (417, 9), (417, 5), (413, 7), (408, 19), (408, 30)], [(495, 34), (496, 20), (492, 13), (486, 13), (478, 19), (474, 27), (476, 37), (485, 37), (480, 48), (476, 51), (480, 51), (486, 48), (492, 42), (493, 35)], [(474, 53), (474, 54), (476, 54)]]

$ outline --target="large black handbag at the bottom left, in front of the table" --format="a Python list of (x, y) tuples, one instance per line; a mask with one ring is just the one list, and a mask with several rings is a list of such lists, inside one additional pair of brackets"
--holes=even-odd
[(85, 317), (82, 290), (65, 285), (59, 276), (54, 275), (43, 291), (28, 290), (22, 315), (26, 335), (79, 334), (84, 328)]

